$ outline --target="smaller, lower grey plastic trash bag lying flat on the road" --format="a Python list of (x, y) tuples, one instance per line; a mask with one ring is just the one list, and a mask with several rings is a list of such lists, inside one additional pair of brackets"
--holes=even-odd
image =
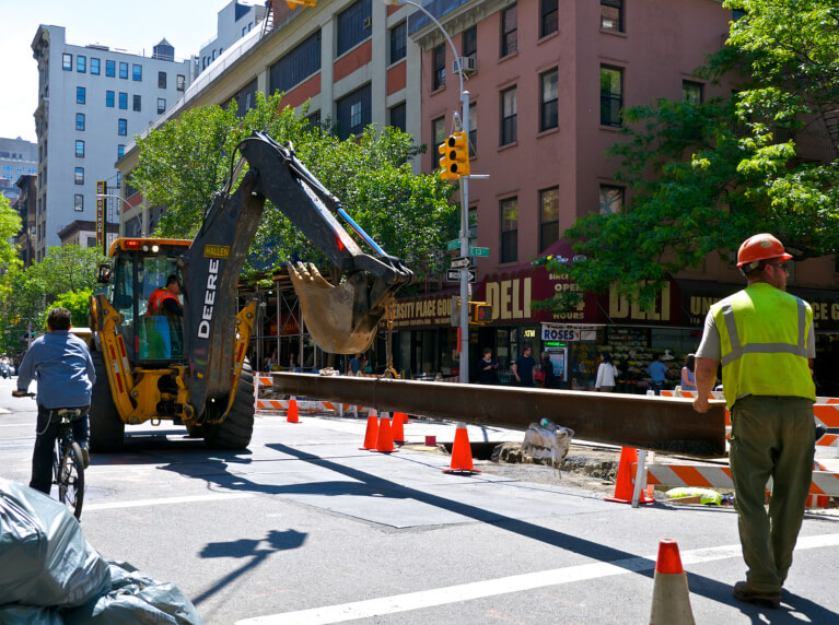
[(202, 625), (193, 602), (172, 583), (112, 562), (110, 590), (65, 613), (66, 625)]

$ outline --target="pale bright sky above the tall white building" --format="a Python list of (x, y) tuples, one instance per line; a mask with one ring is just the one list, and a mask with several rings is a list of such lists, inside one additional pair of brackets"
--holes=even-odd
[[(0, 0), (0, 137), (36, 141), (32, 116), (38, 66), (32, 40), (40, 24), (63, 26), (68, 44), (101, 44), (151, 56), (166, 38), (177, 60), (215, 37), (218, 12), (231, 0)], [(261, 4), (259, 0), (240, 0)]]

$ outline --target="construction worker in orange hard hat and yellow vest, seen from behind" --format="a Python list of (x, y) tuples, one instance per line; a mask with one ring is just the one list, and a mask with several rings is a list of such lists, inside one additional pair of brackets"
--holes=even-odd
[(708, 410), (722, 364), (723, 393), (731, 411), (729, 459), (748, 567), (746, 581), (734, 586), (734, 598), (768, 608), (781, 603), (815, 449), (813, 310), (786, 293), (791, 258), (770, 234), (746, 239), (737, 252), (737, 267), (748, 285), (711, 307), (696, 353), (694, 408), (700, 413)]

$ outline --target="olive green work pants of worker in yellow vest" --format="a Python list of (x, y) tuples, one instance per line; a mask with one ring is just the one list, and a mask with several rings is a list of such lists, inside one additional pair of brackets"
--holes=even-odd
[[(753, 590), (780, 592), (813, 479), (813, 402), (749, 396), (732, 410), (730, 462), (739, 541)], [(766, 485), (772, 477), (769, 514)]]

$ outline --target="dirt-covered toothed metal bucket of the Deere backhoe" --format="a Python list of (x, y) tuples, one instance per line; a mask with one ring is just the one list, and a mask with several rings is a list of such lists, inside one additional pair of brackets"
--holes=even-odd
[(359, 284), (363, 278), (353, 276), (336, 286), (314, 264), (289, 263), (288, 269), (306, 328), (317, 345), (334, 354), (366, 351), (385, 307), (384, 302), (371, 306), (366, 284)]

